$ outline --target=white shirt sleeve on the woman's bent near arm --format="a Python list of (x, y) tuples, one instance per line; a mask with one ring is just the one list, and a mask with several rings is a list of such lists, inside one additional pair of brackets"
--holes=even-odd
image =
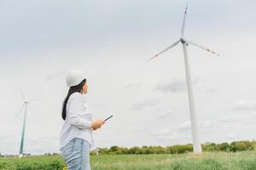
[(92, 122), (82, 118), (83, 98), (80, 94), (74, 94), (68, 106), (68, 122), (78, 128), (90, 128)]

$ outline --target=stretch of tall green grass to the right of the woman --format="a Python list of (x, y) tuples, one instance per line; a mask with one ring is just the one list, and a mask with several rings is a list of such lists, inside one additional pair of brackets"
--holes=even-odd
[(256, 170), (256, 151), (92, 157), (93, 170)]

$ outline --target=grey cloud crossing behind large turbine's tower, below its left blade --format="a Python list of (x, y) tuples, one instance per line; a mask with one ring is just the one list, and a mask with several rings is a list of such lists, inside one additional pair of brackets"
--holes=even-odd
[[(199, 79), (193, 79), (192, 84), (197, 84)], [(158, 82), (158, 84), (152, 90), (160, 91), (165, 94), (168, 92), (181, 93), (187, 89), (186, 82), (184, 80), (174, 80), (172, 82)]]

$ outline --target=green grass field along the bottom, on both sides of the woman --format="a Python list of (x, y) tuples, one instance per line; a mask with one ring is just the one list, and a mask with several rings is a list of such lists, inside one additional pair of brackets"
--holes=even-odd
[[(256, 170), (256, 151), (194, 155), (90, 156), (92, 170)], [(61, 156), (0, 158), (4, 170), (67, 169)]]

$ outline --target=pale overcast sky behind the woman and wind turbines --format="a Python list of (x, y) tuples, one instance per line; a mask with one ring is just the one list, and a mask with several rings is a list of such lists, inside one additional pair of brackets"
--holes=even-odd
[[(0, 1), (0, 152), (59, 152), (61, 105), (70, 69), (88, 77), (94, 118), (114, 115), (94, 133), (96, 147), (191, 143), (182, 46), (186, 1)], [(188, 47), (201, 143), (256, 139), (256, 2), (189, 1)]]

